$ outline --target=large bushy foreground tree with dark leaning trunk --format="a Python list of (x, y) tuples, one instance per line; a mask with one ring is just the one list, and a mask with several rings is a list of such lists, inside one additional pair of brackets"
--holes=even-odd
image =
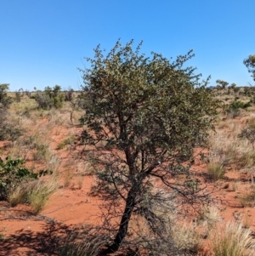
[[(191, 51), (170, 62), (154, 52), (150, 58), (139, 54), (141, 44), (133, 50), (133, 41), (125, 46), (118, 41), (107, 55), (97, 47), (94, 59), (87, 59), (90, 68), (80, 70), (88, 102), (82, 117), (84, 156), (96, 171), (94, 188), (105, 199), (105, 227), (120, 217), (105, 253), (121, 247), (133, 214), (161, 236), (162, 206), (176, 198), (200, 202), (189, 168), (194, 148), (206, 145), (217, 113), (208, 81), (200, 82), (195, 68), (184, 68)], [(182, 185), (171, 182), (176, 174), (186, 175)]]

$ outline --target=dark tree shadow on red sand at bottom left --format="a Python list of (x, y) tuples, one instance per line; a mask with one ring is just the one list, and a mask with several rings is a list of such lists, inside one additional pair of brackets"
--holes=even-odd
[[(96, 228), (91, 226), (67, 226), (48, 221), (42, 231), (20, 230), (0, 240), (0, 255), (71, 255), (95, 253), (102, 242), (102, 236), (96, 236)], [(77, 254), (76, 254), (77, 255)]]

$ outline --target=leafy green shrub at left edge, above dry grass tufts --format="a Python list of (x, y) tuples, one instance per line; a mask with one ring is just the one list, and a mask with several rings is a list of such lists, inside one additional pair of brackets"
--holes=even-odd
[(32, 173), (24, 167), (24, 163), (22, 158), (12, 159), (8, 156), (6, 162), (3, 162), (0, 157), (0, 200), (5, 200), (8, 189), (19, 185), (22, 180), (38, 179), (42, 175), (52, 173), (48, 170), (42, 170), (38, 174)]

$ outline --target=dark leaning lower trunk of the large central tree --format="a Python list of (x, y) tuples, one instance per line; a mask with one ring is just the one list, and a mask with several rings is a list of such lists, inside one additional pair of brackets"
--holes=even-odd
[(115, 253), (119, 249), (119, 247), (121, 247), (122, 241), (125, 238), (125, 236), (127, 235), (129, 220), (133, 213), (133, 208), (135, 205), (135, 194), (136, 193), (133, 189), (131, 189), (128, 192), (126, 207), (125, 207), (124, 213), (122, 215), (122, 220), (120, 223), (119, 230), (116, 234), (114, 242), (111, 244), (110, 247), (108, 247), (106, 250), (104, 250), (103, 253)]

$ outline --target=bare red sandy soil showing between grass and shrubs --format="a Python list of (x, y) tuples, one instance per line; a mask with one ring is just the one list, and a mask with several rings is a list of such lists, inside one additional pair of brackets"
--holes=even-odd
[[(77, 117), (79, 114), (81, 113), (78, 113)], [(65, 117), (68, 119), (68, 111), (62, 116), (62, 119)], [(70, 145), (58, 148), (63, 139), (70, 136), (77, 138), (81, 128), (66, 124), (65, 121), (56, 122), (54, 118), (37, 117), (32, 127), (28, 129), (28, 134), (23, 135), (22, 138), (26, 139), (26, 136), (31, 135), (36, 129), (37, 131), (41, 129), (41, 132), (47, 129), (46, 132), (44, 130), (45, 134), (42, 133), (42, 138), (45, 136), (49, 141), (48, 147), (52, 157), (59, 159), (57, 167), (59, 188), (50, 196), (46, 207), (38, 214), (32, 213), (31, 207), (26, 204), (12, 208), (8, 202), (0, 202), (0, 255), (52, 255), (54, 249), (59, 246), (61, 237), (65, 239), (65, 235), (71, 230), (100, 223), (100, 200), (96, 196), (89, 196), (88, 193), (94, 183), (94, 176), (88, 174), (86, 170), (89, 168), (88, 165), (79, 159), (77, 149), (74, 150), (75, 139)], [(26, 118), (27, 122), (28, 120), (29, 118)], [(246, 119), (238, 117), (233, 122), (236, 125), (243, 125)], [(24, 123), (24, 126), (26, 125)], [(228, 132), (228, 129), (228, 127), (217, 127), (218, 131)], [(10, 152), (14, 152), (14, 145), (11, 146), (9, 141), (1, 141), (0, 152), (0, 156), (4, 158)], [(32, 152), (32, 149), (26, 152), (28, 167), (34, 164)], [(43, 160), (37, 161), (34, 168), (40, 169), (40, 167), (45, 167)], [(245, 203), (241, 200), (242, 195), (251, 190), (255, 172), (251, 171), (252, 167), (247, 170), (239, 169), (236, 163), (229, 164), (226, 168), (224, 179), (214, 181), (208, 174), (207, 162), (197, 158), (191, 171), (201, 181), (201, 185), (207, 186), (207, 191), (211, 193), (212, 203), (218, 209), (218, 224), (232, 221), (255, 230), (254, 202)], [(201, 255), (212, 255), (209, 239), (204, 240)]]

